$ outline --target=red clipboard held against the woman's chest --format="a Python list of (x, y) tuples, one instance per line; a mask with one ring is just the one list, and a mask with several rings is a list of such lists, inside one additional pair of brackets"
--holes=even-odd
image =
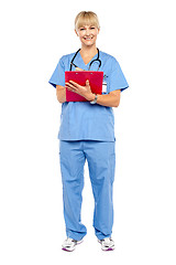
[[(103, 72), (98, 71), (66, 71), (65, 82), (74, 81), (79, 85), (85, 86), (86, 81), (89, 80), (91, 92), (102, 94)], [(66, 88), (66, 102), (87, 102), (87, 99), (77, 93)]]

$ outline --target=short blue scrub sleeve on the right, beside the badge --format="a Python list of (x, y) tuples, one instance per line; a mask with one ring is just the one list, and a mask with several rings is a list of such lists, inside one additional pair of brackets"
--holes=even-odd
[(118, 61), (113, 57), (111, 62), (111, 72), (109, 74), (109, 93), (116, 89), (124, 91), (129, 87), (129, 84), (123, 75), (123, 72), (118, 63)]

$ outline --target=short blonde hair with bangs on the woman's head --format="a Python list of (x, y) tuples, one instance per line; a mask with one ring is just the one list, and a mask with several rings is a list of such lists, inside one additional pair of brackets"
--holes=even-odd
[(84, 25), (95, 25), (96, 28), (100, 28), (98, 17), (92, 11), (81, 11), (76, 15), (75, 19), (75, 30), (80, 29)]

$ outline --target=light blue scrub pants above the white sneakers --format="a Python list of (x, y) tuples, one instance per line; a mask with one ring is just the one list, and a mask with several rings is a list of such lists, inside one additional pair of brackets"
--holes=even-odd
[(87, 234), (80, 219), (86, 159), (95, 199), (92, 225), (97, 237), (102, 240), (111, 236), (113, 225), (116, 141), (59, 140), (66, 234), (76, 241)]

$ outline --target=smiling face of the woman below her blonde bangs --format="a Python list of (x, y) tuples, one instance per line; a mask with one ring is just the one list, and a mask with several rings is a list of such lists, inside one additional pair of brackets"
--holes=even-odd
[(99, 31), (100, 30), (95, 25), (82, 25), (79, 29), (75, 30), (76, 34), (79, 36), (81, 44), (86, 46), (96, 44)]

